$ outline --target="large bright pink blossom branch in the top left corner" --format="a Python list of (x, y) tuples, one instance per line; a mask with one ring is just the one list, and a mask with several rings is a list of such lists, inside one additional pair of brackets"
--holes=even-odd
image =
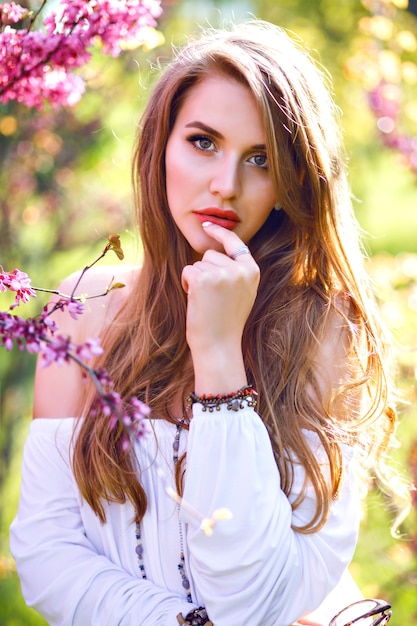
[(40, 31), (32, 22), (13, 28), (28, 11), (13, 2), (0, 5), (0, 102), (38, 109), (45, 101), (76, 104), (85, 84), (74, 70), (89, 61), (89, 48), (101, 41), (106, 54), (117, 56), (122, 42), (142, 43), (161, 13), (159, 0), (62, 0)]

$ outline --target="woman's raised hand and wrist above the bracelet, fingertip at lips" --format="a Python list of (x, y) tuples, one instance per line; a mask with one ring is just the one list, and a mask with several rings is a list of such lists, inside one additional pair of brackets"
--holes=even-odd
[(183, 270), (187, 342), (196, 392), (228, 393), (247, 382), (241, 341), (258, 289), (259, 267), (248, 253), (232, 258), (244, 246), (235, 233), (211, 222), (203, 227), (225, 252), (207, 250), (201, 261)]

